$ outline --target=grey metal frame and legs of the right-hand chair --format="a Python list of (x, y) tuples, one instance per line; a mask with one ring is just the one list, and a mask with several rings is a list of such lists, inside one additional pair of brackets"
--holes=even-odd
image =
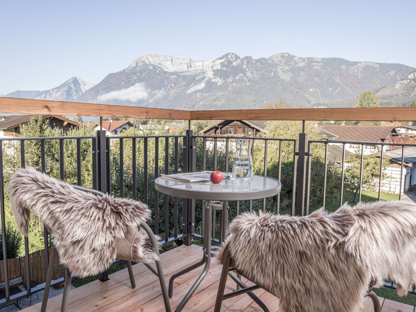
[[(220, 284), (218, 285), (217, 298), (215, 300), (214, 312), (220, 312), (223, 300), (232, 298), (238, 295), (243, 295), (245, 293), (247, 293), (251, 297), (251, 299), (253, 299), (254, 302), (256, 302), (264, 312), (270, 312), (267, 306), (265, 305), (265, 303), (262, 302), (260, 298), (256, 296), (255, 293), (253, 292), (253, 290), (259, 289), (261, 288), (261, 286), (253, 285), (253, 286), (248, 287), (247, 285), (245, 285), (243, 281), (240, 280), (240, 278), (238, 278), (233, 273), (233, 271), (236, 271), (239, 275), (241, 275), (242, 272), (234, 268), (230, 269), (231, 255), (228, 252), (228, 247), (225, 247), (225, 249), (223, 250), (223, 253), (225, 256), (223, 260), (223, 269), (221, 271)], [(237, 283), (237, 290), (233, 292), (229, 292), (228, 294), (224, 294), (225, 283), (227, 282), (227, 276), (230, 276), (234, 280), (234, 282)], [(374, 292), (371, 291), (373, 288), (373, 285), (374, 285), (374, 279), (371, 280), (370, 285), (369, 285), (369, 291), (364, 297), (371, 298), (373, 305), (374, 305), (374, 312), (381, 312), (379, 298)], [(239, 287), (241, 287), (241, 289), (239, 289)]]

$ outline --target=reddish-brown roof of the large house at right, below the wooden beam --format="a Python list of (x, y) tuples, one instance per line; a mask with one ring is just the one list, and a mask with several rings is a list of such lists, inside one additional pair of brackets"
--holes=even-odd
[(318, 127), (336, 136), (333, 137), (333, 141), (378, 142), (380, 140), (384, 141), (391, 133), (397, 133), (394, 126), (319, 125)]

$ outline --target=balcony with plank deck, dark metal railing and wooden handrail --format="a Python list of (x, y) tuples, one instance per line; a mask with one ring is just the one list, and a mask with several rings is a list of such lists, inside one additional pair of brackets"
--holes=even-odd
[[(283, 191), (273, 198), (256, 201), (236, 201), (230, 203), (229, 219), (245, 211), (272, 211), (291, 215), (305, 215), (318, 206), (328, 210), (339, 207), (346, 200), (351, 201), (354, 192), (348, 191), (348, 183), (353, 178), (356, 183), (357, 200), (379, 200), (402, 198), (406, 183), (404, 151), (416, 144), (399, 144), (384, 142), (337, 141), (341, 145), (341, 166), (334, 168), (329, 157), (328, 146), (332, 141), (308, 139), (307, 131), (302, 125), (311, 124), (313, 120), (406, 120), (416, 117), (416, 108), (378, 108), (378, 109), (253, 109), (235, 111), (178, 111), (167, 109), (111, 106), (100, 104), (80, 104), (40, 100), (0, 98), (0, 114), (55, 114), (82, 115), (99, 117), (183, 119), (183, 120), (295, 120), (298, 121), (299, 133), (296, 138), (255, 137), (252, 154), (257, 174), (267, 175), (282, 181)], [(191, 122), (189, 123), (191, 125)], [(307, 129), (306, 129), (307, 130)], [(161, 173), (213, 170), (218, 166), (222, 171), (229, 171), (233, 155), (233, 136), (201, 136), (188, 129), (186, 133), (168, 135), (120, 135), (105, 136), (105, 131), (84, 136), (59, 137), (19, 137), (0, 139), (0, 200), (2, 210), (2, 228), (6, 228), (5, 212), (8, 198), (4, 192), (10, 173), (20, 166), (37, 166), (46, 172), (69, 183), (74, 183), (114, 196), (134, 198), (149, 204), (153, 215), (149, 225), (154, 233), (162, 237), (160, 244), (168, 251), (161, 255), (165, 275), (169, 277), (182, 267), (201, 258), (202, 216), (201, 201), (186, 200), (158, 193), (154, 190), (154, 179)], [(364, 154), (357, 163), (358, 170), (354, 176), (352, 165), (347, 164), (346, 145), (374, 145), (379, 147), (379, 176), (364, 183)], [(399, 194), (384, 193), (384, 146), (399, 148), (401, 159), (396, 160), (399, 168), (396, 181)], [(358, 151), (360, 152), (360, 151)], [(319, 154), (320, 153), (320, 154)], [(316, 158), (321, 155), (321, 158)], [(399, 155), (400, 158), (400, 155)], [(350, 181), (351, 180), (351, 181)], [(368, 191), (369, 183), (374, 190)], [(332, 186), (337, 184), (334, 189)], [(220, 231), (218, 215), (213, 218), (213, 242), (219, 243)], [(40, 224), (40, 226), (42, 226)], [(3, 232), (4, 233), (4, 232)], [(2, 246), (6, 250), (7, 237), (3, 235)], [(44, 257), (34, 260), (30, 250), (31, 241), (25, 239), (25, 255), (20, 260), (19, 272), (3, 261), (0, 282), (8, 285), (12, 279), (22, 277), (22, 281), (37, 279), (37, 286), (22, 290), (12, 295), (5, 289), (5, 298), (1, 305), (13, 300), (40, 292), (45, 287), (42, 283), (42, 265), (47, 263), (50, 247), (47, 230), (43, 232)], [(198, 244), (198, 245), (195, 245)], [(35, 250), (37, 253), (39, 250)], [(39, 251), (40, 254), (41, 251)], [(8, 259), (7, 253), (5, 259)], [(37, 257), (35, 257), (37, 259)], [(36, 262), (35, 262), (36, 261)], [(39, 269), (38, 269), (39, 268)], [(101, 280), (88, 283), (71, 291), (69, 311), (161, 311), (162, 300), (156, 278), (142, 264), (133, 266), (136, 276), (136, 289), (128, 284), (126, 270), (109, 275), (105, 272)], [(20, 273), (21, 272), (21, 273)], [(193, 270), (181, 278), (171, 298), (174, 309), (196, 280), (201, 269)], [(27, 274), (29, 273), (29, 274)], [(19, 276), (17, 276), (19, 275)], [(213, 263), (203, 284), (198, 287), (183, 311), (211, 311), (215, 303), (216, 287), (220, 275), (220, 265)], [(6, 278), (7, 277), (7, 278)], [(56, 276), (53, 283), (62, 282), (62, 275)], [(28, 285), (28, 284), (27, 284)], [(20, 284), (13, 285), (19, 287)], [(385, 283), (385, 290), (395, 288), (394, 282)], [(229, 282), (230, 290), (235, 284)], [(279, 300), (264, 290), (256, 290), (270, 311), (279, 310)], [(411, 290), (408, 297), (414, 296)], [(48, 303), (47, 311), (59, 310), (62, 297), (57, 296)], [(389, 298), (380, 298), (383, 311), (413, 311), (414, 307), (395, 302)], [(413, 299), (411, 299), (413, 300)], [(369, 311), (369, 301), (363, 311)], [(408, 302), (409, 303), (409, 302)], [(9, 308), (9, 307), (8, 307)], [(248, 295), (225, 300), (223, 310), (258, 311), (259, 307)], [(396, 310), (395, 310), (396, 309)], [(39, 305), (28, 307), (25, 311), (39, 311)]]

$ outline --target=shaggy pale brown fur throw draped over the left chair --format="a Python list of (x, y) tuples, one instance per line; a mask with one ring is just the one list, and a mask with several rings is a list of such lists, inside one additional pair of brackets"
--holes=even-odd
[(20, 233), (27, 236), (31, 211), (40, 216), (51, 231), (59, 261), (80, 277), (106, 270), (117, 258), (116, 242), (131, 235), (132, 228), (139, 228), (131, 235), (132, 260), (158, 259), (139, 227), (151, 216), (144, 203), (79, 191), (32, 167), (16, 171), (8, 191)]

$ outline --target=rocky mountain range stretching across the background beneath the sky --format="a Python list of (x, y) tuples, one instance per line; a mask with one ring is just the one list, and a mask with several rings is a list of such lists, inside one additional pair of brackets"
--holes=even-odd
[(280, 53), (253, 59), (228, 53), (211, 60), (147, 54), (97, 85), (78, 77), (51, 90), (6, 97), (55, 99), (174, 109), (258, 108), (280, 97), (301, 106), (352, 106), (364, 90), (382, 105), (416, 96), (416, 69), (403, 64)]

